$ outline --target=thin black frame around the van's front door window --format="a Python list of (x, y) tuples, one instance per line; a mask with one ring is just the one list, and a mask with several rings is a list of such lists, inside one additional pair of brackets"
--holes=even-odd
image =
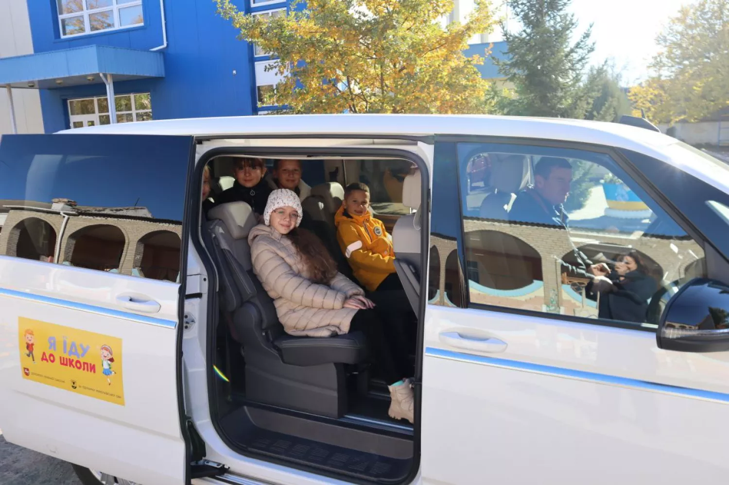
[[(455, 157), (456, 157), (456, 165), (454, 167), (454, 170), (456, 170), (456, 184), (458, 185), (458, 194), (456, 194), (456, 197), (458, 198), (457, 204), (459, 208), (459, 217), (460, 217), (460, 229), (458, 234), (456, 234), (457, 239), (457, 252), (459, 254), (459, 261), (461, 263), (461, 294), (464, 297), (464, 309), (479, 309), (479, 310), (486, 310), (488, 312), (498, 312), (498, 313), (507, 313), (512, 315), (523, 315), (526, 317), (534, 317), (534, 318), (544, 318), (547, 320), (561, 320), (564, 322), (570, 322), (570, 323), (585, 323), (589, 325), (597, 325), (597, 326), (608, 326), (613, 328), (624, 328), (627, 330), (634, 330), (634, 331), (647, 331), (650, 333), (655, 334), (655, 330), (657, 328), (656, 325), (650, 324), (650, 323), (642, 323), (639, 325), (636, 325), (635, 323), (629, 323), (629, 322), (621, 322), (619, 320), (603, 320), (599, 318), (585, 318), (585, 317), (579, 317), (577, 315), (561, 315), (561, 314), (555, 314), (555, 313), (547, 313), (547, 312), (539, 312), (537, 310), (531, 310), (531, 309), (519, 309), (519, 308), (513, 308), (513, 307), (500, 307), (498, 305), (489, 305), (489, 304), (482, 304), (482, 303), (474, 303), (471, 301), (470, 292), (467, 288), (469, 288), (468, 285), (468, 272), (467, 272), (467, 260), (466, 260), (466, 236), (465, 236), (465, 229), (464, 229), (464, 213), (463, 213), (463, 199), (462, 195), (464, 192), (464, 186), (461, 183), (461, 174), (459, 173), (459, 159), (458, 159), (458, 144), (459, 143), (499, 143), (499, 144), (509, 144), (509, 145), (524, 145), (524, 146), (536, 146), (536, 147), (545, 147), (545, 148), (556, 148), (556, 149), (573, 149), (573, 150), (582, 150), (582, 151), (592, 151), (597, 154), (604, 154), (613, 159), (615, 162), (615, 165), (620, 167), (625, 174), (631, 178), (631, 181), (633, 181), (635, 184), (641, 187), (641, 189), (646, 192), (646, 194), (651, 197), (652, 202), (654, 202), (656, 205), (658, 205), (670, 218), (673, 219), (673, 221), (681, 228), (683, 229), (686, 234), (691, 237), (696, 244), (698, 244), (703, 253), (704, 258), (706, 258), (707, 264), (709, 261), (709, 253), (712, 253), (713, 256), (713, 248), (712, 246), (707, 242), (706, 237), (703, 237), (703, 234), (698, 231), (698, 229), (690, 223), (690, 221), (687, 220), (686, 216), (684, 216), (677, 208), (675, 208), (673, 205), (671, 205), (670, 202), (666, 199), (665, 196), (650, 182), (650, 180), (644, 176), (640, 170), (634, 166), (634, 164), (625, 157), (618, 149), (615, 149), (611, 146), (605, 146), (605, 145), (599, 145), (596, 143), (582, 143), (582, 142), (575, 142), (575, 141), (558, 141), (558, 140), (547, 140), (543, 138), (513, 138), (513, 137), (502, 137), (502, 136), (488, 136), (488, 135), (437, 135), (435, 137), (435, 146), (437, 154), (437, 147), (440, 144), (443, 143), (453, 143), (454, 144), (454, 150), (455, 150)], [(437, 158), (434, 159), (433, 163), (437, 164), (439, 160)], [(435, 169), (434, 169), (435, 170)], [(436, 206), (437, 207), (437, 206)]]

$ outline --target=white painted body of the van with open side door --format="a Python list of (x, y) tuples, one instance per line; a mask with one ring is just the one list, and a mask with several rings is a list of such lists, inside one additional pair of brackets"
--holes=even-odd
[[(429, 173), (434, 151), (427, 138), (436, 135), (586, 143), (644, 154), (729, 194), (725, 167), (674, 138), (617, 123), (299, 115), (158, 120), (61, 133), (195, 137), (203, 140), (195, 160), (217, 146), (390, 148), (415, 154)], [(431, 189), (438, 183), (432, 176), (429, 181)], [(183, 242), (187, 293), (206, 294), (203, 261)], [(184, 313), (197, 324), (181, 330), (179, 287), (0, 256), (0, 342), (9, 343), (0, 348), (0, 428), (7, 440), (141, 484), (182, 484), (181, 385), (206, 460), (227, 467), (220, 480), (344, 483), (243, 456), (219, 437), (208, 409), (206, 310), (187, 301)], [(120, 295), (150, 297), (160, 309), (150, 315), (124, 306)], [(73, 322), (129, 342), (124, 406), (22, 379), (15, 344), (20, 317)], [(176, 331), (183, 334), (181, 376)], [(662, 350), (644, 329), (434, 304), (426, 305), (422, 347), (420, 468), (413, 483), (682, 485), (720, 483), (729, 472), (722, 453), (729, 445), (723, 420), (729, 416), (729, 352)], [(222, 483), (218, 478), (192, 483)]]

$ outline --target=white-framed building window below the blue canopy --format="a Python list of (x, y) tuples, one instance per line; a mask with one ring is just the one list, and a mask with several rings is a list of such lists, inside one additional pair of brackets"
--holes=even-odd
[[(152, 119), (152, 100), (149, 92), (114, 97), (117, 123), (149, 121)], [(71, 128), (109, 125), (109, 100), (106, 96), (69, 100)]]

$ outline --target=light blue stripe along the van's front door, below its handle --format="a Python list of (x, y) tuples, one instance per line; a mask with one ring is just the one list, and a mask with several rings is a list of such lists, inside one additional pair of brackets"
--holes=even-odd
[(541, 364), (521, 362), (519, 360), (509, 360), (486, 357), (483, 355), (466, 354), (462, 352), (452, 352), (451, 350), (443, 350), (435, 347), (426, 347), (425, 355), (450, 360), (464, 360), (467, 362), (484, 364), (486, 366), (511, 368), (516, 371), (539, 372), (542, 374), (551, 374), (554, 376), (570, 377), (572, 379), (585, 379), (593, 382), (601, 382), (603, 384), (634, 387), (636, 389), (658, 391), (660, 393), (671, 393), (690, 398), (711, 399), (713, 401), (722, 401), (725, 403), (729, 403), (729, 394), (726, 393), (715, 393), (714, 391), (694, 389), (691, 387), (679, 387), (666, 384), (658, 384), (656, 382), (628, 379), (627, 377), (610, 376), (608, 374), (597, 374), (595, 372), (575, 371), (571, 368), (542, 366)]

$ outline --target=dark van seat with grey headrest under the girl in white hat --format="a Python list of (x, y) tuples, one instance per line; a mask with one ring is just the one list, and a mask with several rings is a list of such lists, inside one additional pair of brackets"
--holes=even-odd
[(208, 211), (208, 218), (220, 308), (231, 336), (243, 347), (246, 398), (322, 416), (343, 416), (345, 365), (366, 362), (364, 335), (286, 334), (273, 299), (252, 270), (248, 234), (256, 220), (251, 206), (246, 202), (217, 205)]

